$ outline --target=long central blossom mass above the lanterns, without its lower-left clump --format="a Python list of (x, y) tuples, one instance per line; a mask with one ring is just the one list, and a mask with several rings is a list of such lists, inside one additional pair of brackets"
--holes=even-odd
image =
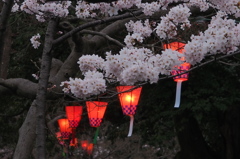
[(183, 55), (177, 51), (167, 49), (162, 55), (147, 48), (123, 48), (118, 54), (106, 53), (106, 60), (97, 55), (84, 55), (78, 64), (83, 74), (87, 70), (101, 69), (109, 81), (119, 81), (123, 85), (134, 85), (139, 82), (156, 83), (159, 74), (169, 75), (176, 65), (182, 61)]

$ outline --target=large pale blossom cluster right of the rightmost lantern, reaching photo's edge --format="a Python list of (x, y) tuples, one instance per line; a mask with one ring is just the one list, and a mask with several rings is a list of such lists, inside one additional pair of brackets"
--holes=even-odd
[(228, 19), (224, 12), (212, 18), (208, 29), (192, 36), (185, 46), (186, 61), (195, 65), (206, 55), (229, 54), (237, 50), (240, 44), (240, 25)]

